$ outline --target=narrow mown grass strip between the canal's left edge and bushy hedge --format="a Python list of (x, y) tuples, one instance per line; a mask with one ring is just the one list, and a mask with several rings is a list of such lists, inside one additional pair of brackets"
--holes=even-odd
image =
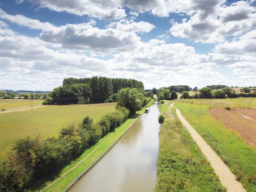
[[(148, 103), (146, 107), (150, 107), (154, 104), (154, 100), (152, 99), (151, 102)], [(79, 161), (84, 159), (88, 154), (90, 154), (95, 148), (97, 148), (103, 141), (105, 141), (111, 134), (113, 134), (111, 137), (109, 137), (102, 145), (99, 146), (95, 151), (93, 151), (92, 154), (90, 154), (89, 157), (87, 157), (84, 161), (82, 161), (76, 168), (74, 168), (72, 171), (67, 173), (65, 177), (60, 178), (58, 181), (44, 189), (44, 192), (62, 192), (64, 189), (67, 188), (67, 186), (70, 185), (70, 183), (73, 182), (73, 180), (76, 179), (85, 169), (87, 169), (96, 159), (98, 159), (99, 156), (101, 156), (104, 151), (106, 151), (138, 118), (140, 115), (142, 115), (145, 111), (145, 108), (143, 108), (141, 111), (137, 111), (136, 115), (127, 119), (125, 122), (122, 123), (119, 127), (115, 128), (114, 134), (113, 132), (108, 133), (105, 137), (100, 139), (95, 145), (88, 148), (86, 151), (84, 151), (83, 154), (81, 154), (80, 157), (78, 157), (76, 160), (72, 161), (69, 165), (64, 167), (61, 172), (59, 172), (57, 175), (52, 176), (47, 180), (43, 185), (39, 186), (37, 189), (30, 189), (29, 192), (38, 192), (44, 187), (48, 186), (50, 183), (52, 183), (54, 180), (58, 179), (61, 175), (63, 175), (65, 172), (69, 171), (73, 166), (75, 166)], [(123, 127), (122, 127), (123, 126)]]

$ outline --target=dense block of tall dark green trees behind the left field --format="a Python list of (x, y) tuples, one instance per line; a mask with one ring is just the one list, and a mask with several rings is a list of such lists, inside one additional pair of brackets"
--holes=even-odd
[(144, 84), (135, 79), (108, 78), (93, 76), (92, 78), (65, 78), (62, 86), (49, 93), (44, 105), (69, 105), (116, 102), (116, 93), (123, 88), (137, 88), (144, 93)]

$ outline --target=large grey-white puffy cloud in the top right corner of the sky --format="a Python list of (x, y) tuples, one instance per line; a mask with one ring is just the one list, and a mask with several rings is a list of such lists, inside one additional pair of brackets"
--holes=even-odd
[(256, 27), (256, 8), (249, 2), (239, 1), (230, 6), (223, 5), (223, 0), (194, 2), (198, 4), (189, 14), (195, 14), (181, 23), (173, 21), (169, 30), (172, 35), (195, 42), (221, 43), (227, 36), (239, 36)]

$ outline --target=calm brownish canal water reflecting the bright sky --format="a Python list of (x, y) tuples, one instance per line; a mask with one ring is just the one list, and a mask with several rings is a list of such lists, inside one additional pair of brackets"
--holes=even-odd
[(157, 181), (157, 102), (88, 171), (71, 192), (151, 192)]

